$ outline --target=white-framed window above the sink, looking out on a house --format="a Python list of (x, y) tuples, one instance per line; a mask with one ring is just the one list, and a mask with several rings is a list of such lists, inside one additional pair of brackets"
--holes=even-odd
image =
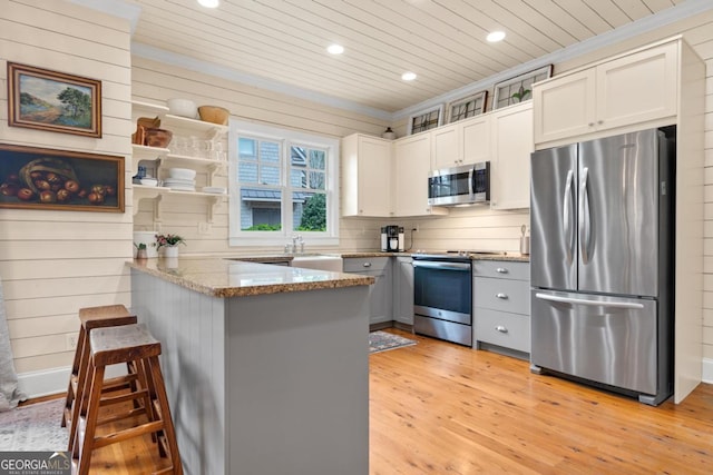
[(339, 244), (339, 141), (231, 121), (231, 246)]

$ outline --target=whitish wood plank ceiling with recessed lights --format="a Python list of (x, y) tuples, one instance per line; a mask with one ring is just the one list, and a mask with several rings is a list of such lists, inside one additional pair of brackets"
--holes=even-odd
[(685, 1), (135, 0), (133, 41), (395, 112)]

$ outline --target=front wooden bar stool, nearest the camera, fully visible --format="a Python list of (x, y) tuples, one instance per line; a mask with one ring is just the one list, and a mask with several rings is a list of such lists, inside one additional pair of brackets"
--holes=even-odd
[[(150, 335), (145, 325), (123, 325), (94, 329), (89, 333), (89, 347), (90, 357), (85, 390), (75, 405), (77, 433), (74, 438), (70, 437), (69, 444), (72, 464), (77, 465), (76, 473), (79, 475), (89, 473), (91, 453), (95, 449), (153, 434), (158, 439), (159, 455), (168, 456), (172, 463), (170, 467), (158, 473), (183, 474), (166, 386), (158, 363), (160, 343)], [(102, 423), (98, 416), (102, 403), (105, 368), (120, 363), (134, 363), (136, 366), (139, 387), (135, 389), (133, 396), (145, 400), (146, 420), (137, 420), (129, 428), (97, 436), (97, 425)]]

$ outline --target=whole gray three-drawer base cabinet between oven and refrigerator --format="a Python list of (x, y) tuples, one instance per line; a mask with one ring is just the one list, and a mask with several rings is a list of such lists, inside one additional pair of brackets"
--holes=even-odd
[(473, 347), (494, 346), (526, 358), (530, 352), (529, 263), (477, 260), (472, 274)]

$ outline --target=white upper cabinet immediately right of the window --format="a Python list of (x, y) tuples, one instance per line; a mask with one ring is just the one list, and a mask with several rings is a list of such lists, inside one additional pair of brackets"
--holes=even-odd
[(391, 140), (354, 133), (342, 139), (342, 215), (390, 217)]

